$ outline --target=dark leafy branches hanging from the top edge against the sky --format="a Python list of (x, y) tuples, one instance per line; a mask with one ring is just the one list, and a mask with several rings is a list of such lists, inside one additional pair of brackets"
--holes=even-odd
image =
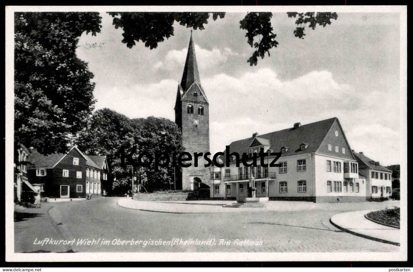
[[(163, 42), (164, 38), (168, 39), (173, 35), (173, 23), (177, 21), (182, 26), (202, 30), (204, 24), (208, 23), (211, 12), (108, 12), (112, 15), (113, 25), (116, 29), (123, 28), (123, 43), (132, 48), (135, 42), (142, 41), (145, 47), (154, 49), (158, 42)], [(313, 30), (319, 24), (325, 27), (331, 24), (331, 19), (337, 19), (335, 12), (314, 12), (298, 13), (287, 12), (288, 17), (298, 16), (295, 22), (300, 27), (294, 30), (294, 35), (303, 38), (304, 25), (309, 24)], [(212, 12), (212, 19), (215, 21), (224, 18), (225, 12)], [(267, 53), (270, 56), (270, 49), (277, 47), (278, 42), (275, 40), (276, 34), (273, 33), (271, 26), (271, 12), (249, 12), (244, 19), (240, 21), (240, 28), (247, 30), (245, 37), (248, 38), (248, 44), (256, 50), (247, 60), (249, 65), (257, 65), (258, 57), (264, 58)], [(254, 39), (258, 41), (254, 42)]]

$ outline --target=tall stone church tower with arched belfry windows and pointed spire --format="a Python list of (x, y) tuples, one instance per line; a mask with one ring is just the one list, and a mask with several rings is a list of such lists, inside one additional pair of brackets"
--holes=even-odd
[[(182, 146), (192, 156), (192, 166), (176, 171), (176, 185), (182, 190), (195, 190), (199, 182), (209, 184), (209, 169), (204, 167), (204, 154), (209, 152), (209, 103), (199, 79), (194, 42), (189, 40), (188, 54), (182, 80), (178, 84), (175, 103), (175, 122), (182, 132)], [(194, 167), (194, 152), (202, 152), (198, 167)], [(184, 162), (188, 164), (188, 162)]]

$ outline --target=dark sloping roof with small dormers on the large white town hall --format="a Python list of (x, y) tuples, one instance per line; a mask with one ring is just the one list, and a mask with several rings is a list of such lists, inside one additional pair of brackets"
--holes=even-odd
[[(337, 117), (333, 117), (310, 124), (304, 124), (295, 129), (289, 128), (263, 134), (260, 135), (259, 138), (271, 143), (270, 148), (274, 150), (274, 152), (280, 152), (282, 147), (288, 147), (288, 150), (282, 153), (281, 157), (316, 152), (336, 120), (338, 121)], [(242, 153), (248, 151), (248, 147), (253, 139), (254, 138), (250, 137), (232, 142), (230, 144), (230, 152), (238, 152), (242, 155)], [(308, 147), (304, 150), (300, 150), (301, 143), (307, 143)], [(225, 155), (222, 156), (222, 159), (225, 161)]]

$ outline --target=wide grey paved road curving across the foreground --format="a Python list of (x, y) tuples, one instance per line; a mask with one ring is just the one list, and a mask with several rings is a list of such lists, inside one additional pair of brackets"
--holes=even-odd
[[(53, 204), (54, 207), (49, 210), (49, 214), (55, 223), (59, 223), (57, 227), (65, 239), (76, 240), (71, 246), (75, 252), (399, 251), (399, 246), (357, 237), (332, 226), (329, 218), (335, 213), (347, 211), (344, 205), (342, 211), (335, 208), (334, 211), (173, 214), (125, 209), (116, 204), (118, 199), (108, 197), (78, 203)], [(112, 244), (117, 241), (116, 239), (152, 242), (159, 242), (161, 239), (163, 242), (174, 238), (188, 241), (215, 239), (214, 242), (217, 244)], [(78, 239), (100, 239), (100, 242), (98, 245), (76, 245)], [(219, 239), (230, 241), (232, 244), (220, 245)], [(237, 239), (248, 239), (252, 245), (240, 242), (234, 244)], [(102, 245), (102, 241), (109, 241), (109, 245)]]

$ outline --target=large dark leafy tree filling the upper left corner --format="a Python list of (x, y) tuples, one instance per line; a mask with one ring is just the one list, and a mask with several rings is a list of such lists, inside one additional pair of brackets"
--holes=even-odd
[(77, 38), (100, 32), (97, 12), (14, 14), (15, 141), (42, 154), (66, 151), (93, 110), (93, 74)]

